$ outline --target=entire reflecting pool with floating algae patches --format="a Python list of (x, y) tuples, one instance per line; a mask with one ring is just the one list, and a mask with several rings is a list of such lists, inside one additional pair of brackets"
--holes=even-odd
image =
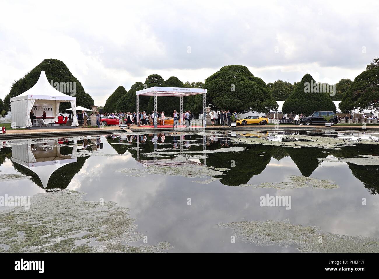
[(7, 140), (0, 251), (379, 252), (378, 144), (365, 130)]

